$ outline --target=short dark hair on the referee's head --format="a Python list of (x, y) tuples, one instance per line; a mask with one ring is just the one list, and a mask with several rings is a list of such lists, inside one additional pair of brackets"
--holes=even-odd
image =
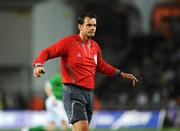
[(92, 12), (83, 12), (81, 15), (79, 15), (79, 17), (77, 19), (77, 23), (82, 25), (84, 23), (85, 17), (95, 18), (96, 19), (96, 15), (94, 13), (92, 13)]

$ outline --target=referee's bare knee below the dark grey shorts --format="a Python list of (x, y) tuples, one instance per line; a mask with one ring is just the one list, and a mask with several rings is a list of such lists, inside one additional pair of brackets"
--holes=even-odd
[(87, 120), (80, 120), (73, 124), (73, 131), (89, 131), (89, 124)]

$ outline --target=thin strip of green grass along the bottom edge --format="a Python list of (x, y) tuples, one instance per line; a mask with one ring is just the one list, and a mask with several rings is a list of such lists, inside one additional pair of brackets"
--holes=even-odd
[[(21, 131), (20, 129), (0, 129), (0, 131)], [(56, 130), (61, 131), (61, 130)], [(69, 130), (71, 131), (71, 130)], [(118, 129), (118, 130), (112, 130), (112, 129), (91, 129), (90, 131), (180, 131), (180, 129)]]

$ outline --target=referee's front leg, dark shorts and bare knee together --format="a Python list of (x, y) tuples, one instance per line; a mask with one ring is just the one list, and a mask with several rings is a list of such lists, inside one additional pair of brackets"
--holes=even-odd
[[(63, 102), (69, 123), (73, 125), (73, 131), (88, 131), (90, 117), (87, 114), (86, 105), (89, 91), (72, 85), (64, 85)], [(89, 122), (88, 122), (89, 121)]]

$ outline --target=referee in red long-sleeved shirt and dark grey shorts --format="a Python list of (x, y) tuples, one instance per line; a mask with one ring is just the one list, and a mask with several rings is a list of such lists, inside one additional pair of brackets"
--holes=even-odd
[(34, 76), (44, 72), (44, 63), (56, 57), (61, 59), (63, 103), (73, 131), (88, 131), (93, 114), (93, 90), (96, 72), (123, 77), (135, 85), (135, 76), (106, 63), (101, 49), (92, 37), (96, 32), (96, 15), (84, 12), (78, 17), (79, 34), (65, 36), (39, 52), (34, 60)]

